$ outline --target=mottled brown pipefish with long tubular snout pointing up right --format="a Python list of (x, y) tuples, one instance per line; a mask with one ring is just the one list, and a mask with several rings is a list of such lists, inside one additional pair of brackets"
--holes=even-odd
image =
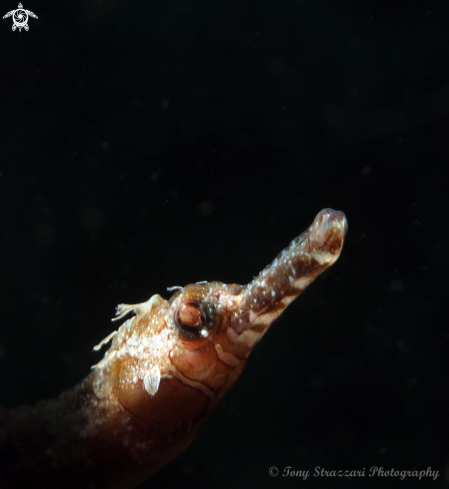
[(0, 487), (131, 488), (176, 458), (276, 317), (338, 258), (346, 230), (325, 209), (247, 286), (192, 284), (119, 306), (135, 316), (80, 384), (0, 411)]

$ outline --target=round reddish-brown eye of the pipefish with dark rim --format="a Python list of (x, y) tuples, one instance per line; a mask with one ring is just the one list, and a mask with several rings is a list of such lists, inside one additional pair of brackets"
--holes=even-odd
[(175, 324), (188, 340), (207, 338), (214, 326), (215, 307), (198, 301), (185, 301), (175, 311)]

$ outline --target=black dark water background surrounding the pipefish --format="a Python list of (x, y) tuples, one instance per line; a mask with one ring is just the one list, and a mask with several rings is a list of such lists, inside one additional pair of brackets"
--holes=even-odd
[(85, 376), (119, 302), (247, 283), (333, 207), (342, 257), (151, 487), (446, 486), (448, 3), (24, 8), (0, 22), (0, 404)]

